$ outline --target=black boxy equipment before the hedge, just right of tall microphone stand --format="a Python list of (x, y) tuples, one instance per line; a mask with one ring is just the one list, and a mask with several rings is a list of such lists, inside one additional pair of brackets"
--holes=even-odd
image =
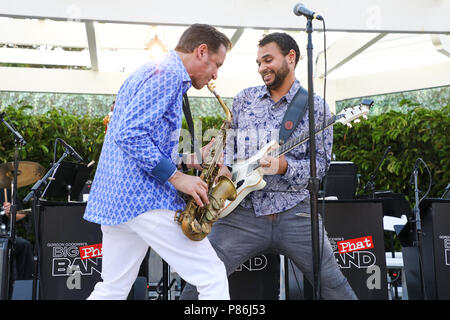
[(322, 180), (325, 196), (335, 196), (339, 200), (354, 199), (358, 167), (350, 161), (331, 161), (326, 177)]

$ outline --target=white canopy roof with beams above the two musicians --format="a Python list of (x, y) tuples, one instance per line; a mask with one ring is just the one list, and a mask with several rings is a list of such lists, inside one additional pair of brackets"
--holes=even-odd
[[(151, 38), (157, 36), (167, 48), (174, 48), (187, 25), (196, 22), (219, 27), (235, 43), (216, 81), (222, 96), (233, 97), (244, 87), (262, 83), (256, 72), (257, 42), (264, 33), (280, 30), (299, 43), (297, 76), (306, 86), (306, 18), (293, 14), (296, 3), (3, 1), (0, 90), (115, 94), (127, 75), (149, 59), (145, 48)], [(450, 84), (450, 0), (304, 4), (326, 21), (326, 98), (332, 107), (346, 98)], [(314, 89), (322, 93), (324, 29), (320, 21), (313, 26)], [(208, 90), (190, 91), (211, 96)]]

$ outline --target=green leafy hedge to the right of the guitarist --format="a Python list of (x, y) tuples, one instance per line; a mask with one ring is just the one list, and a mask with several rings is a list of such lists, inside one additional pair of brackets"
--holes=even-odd
[[(440, 197), (450, 182), (450, 105), (440, 110), (417, 107), (408, 113), (390, 111), (366, 121), (334, 127), (333, 153), (337, 160), (357, 164), (362, 188), (382, 159), (387, 146), (391, 151), (376, 173), (376, 190), (403, 193), (413, 204), (414, 187), (409, 180), (417, 158), (431, 172), (431, 190), (427, 197)], [(420, 197), (429, 187), (426, 167), (419, 165)]]

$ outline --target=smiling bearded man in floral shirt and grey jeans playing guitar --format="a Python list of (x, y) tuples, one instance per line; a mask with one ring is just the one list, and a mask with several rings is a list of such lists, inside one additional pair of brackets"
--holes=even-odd
[[(233, 101), (234, 141), (227, 142), (225, 163), (249, 158), (261, 145), (273, 139), (297, 90), (295, 77), (300, 51), (295, 40), (286, 33), (266, 35), (258, 43), (256, 63), (264, 85), (242, 90)], [(325, 115), (324, 115), (325, 110)], [(330, 117), (328, 105), (314, 95), (316, 124)], [(308, 131), (305, 113), (292, 136)], [(264, 136), (265, 135), (265, 136)], [(229, 135), (232, 136), (232, 135)], [(317, 177), (322, 178), (331, 160), (332, 128), (316, 136)], [(233, 150), (230, 152), (229, 150)], [(275, 252), (290, 258), (313, 283), (311, 219), (309, 191), (309, 143), (304, 143), (280, 157), (265, 156), (260, 160), (264, 180), (261, 190), (253, 191), (229, 215), (212, 227), (208, 239), (224, 262), (227, 274), (249, 258)], [(223, 166), (222, 174), (230, 176)], [(319, 220), (319, 239), (322, 221)], [(330, 242), (323, 237), (320, 267), (320, 294), (323, 299), (357, 299), (341, 273)], [(320, 244), (322, 248), (322, 243)], [(196, 299), (197, 290), (186, 284), (181, 299)]]

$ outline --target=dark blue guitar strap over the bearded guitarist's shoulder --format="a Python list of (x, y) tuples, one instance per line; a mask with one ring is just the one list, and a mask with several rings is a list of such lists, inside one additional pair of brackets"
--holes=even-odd
[(306, 106), (308, 105), (308, 91), (300, 87), (295, 93), (294, 98), (292, 98), (291, 103), (287, 107), (286, 113), (284, 114), (283, 121), (280, 125), (279, 133), (279, 144), (284, 144), (291, 134), (297, 129), (300, 120), (306, 111)]

